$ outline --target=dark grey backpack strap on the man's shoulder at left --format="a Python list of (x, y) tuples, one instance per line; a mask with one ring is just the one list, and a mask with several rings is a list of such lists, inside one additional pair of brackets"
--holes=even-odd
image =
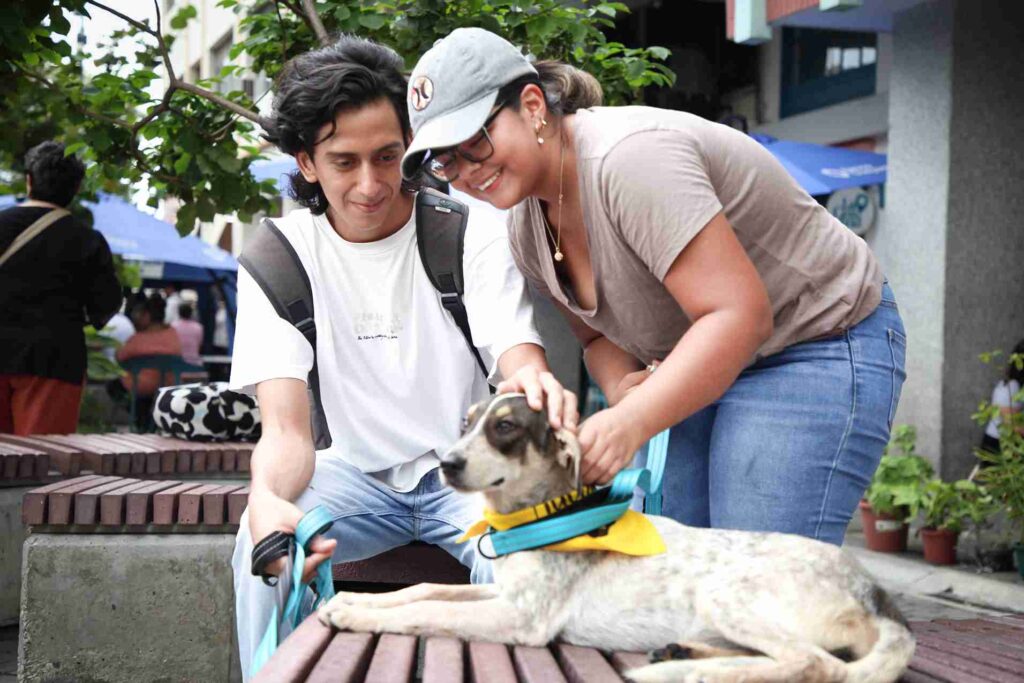
[(246, 240), (239, 256), (246, 271), (252, 275), (270, 301), (278, 315), (302, 333), (313, 349), (313, 367), (307, 386), (310, 399), (313, 443), (317, 451), (331, 445), (331, 431), (321, 400), (319, 374), (316, 369), (316, 323), (313, 317), (313, 292), (299, 255), (273, 221), (264, 218), (255, 232)]

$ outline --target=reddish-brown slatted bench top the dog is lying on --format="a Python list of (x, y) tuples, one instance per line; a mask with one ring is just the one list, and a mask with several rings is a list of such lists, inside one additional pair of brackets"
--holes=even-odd
[[(905, 683), (1024, 680), (1024, 616), (915, 622), (918, 649)], [(606, 653), (556, 643), (518, 647), (454, 638), (334, 631), (310, 616), (289, 636), (255, 683), (622, 683), (647, 663), (638, 652)]]

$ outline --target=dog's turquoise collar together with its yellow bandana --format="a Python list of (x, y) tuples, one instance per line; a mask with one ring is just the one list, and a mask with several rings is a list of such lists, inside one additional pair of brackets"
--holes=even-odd
[(507, 514), (484, 510), (483, 519), (473, 524), (459, 543), (480, 537), (479, 548), (483, 538), (490, 536), (494, 557), (538, 548), (658, 555), (666, 548), (654, 524), (629, 509), (633, 488), (638, 485), (647, 489), (649, 473), (624, 470), (607, 488), (587, 487)]

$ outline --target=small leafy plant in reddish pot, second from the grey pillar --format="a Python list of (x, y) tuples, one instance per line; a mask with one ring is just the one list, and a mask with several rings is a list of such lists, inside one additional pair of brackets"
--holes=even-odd
[(981, 523), (992, 509), (992, 497), (967, 479), (932, 479), (925, 485), (921, 540), (925, 559), (932, 564), (955, 564), (956, 541), (965, 520)]

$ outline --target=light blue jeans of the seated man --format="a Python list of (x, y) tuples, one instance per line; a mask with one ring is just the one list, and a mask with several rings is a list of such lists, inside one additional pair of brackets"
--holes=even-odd
[[(442, 486), (437, 470), (424, 476), (416, 488), (402, 494), (337, 458), (318, 458), (309, 488), (296, 505), (302, 510), (323, 505), (331, 513), (334, 526), (326, 536), (338, 541), (333, 562), (361, 560), (422, 541), (439, 546), (469, 567), (474, 584), (492, 581), (490, 562), (477, 555), (476, 543), (456, 543), (480, 519), (479, 499)], [(290, 569), (272, 588), (252, 574), (252, 549), (247, 512), (242, 516), (231, 559), (239, 655), (245, 680), (249, 680), (253, 653), (266, 631), (273, 605), (278, 605), (280, 615), (291, 589)], [(282, 625), (281, 639), (290, 632), (290, 626)]]

